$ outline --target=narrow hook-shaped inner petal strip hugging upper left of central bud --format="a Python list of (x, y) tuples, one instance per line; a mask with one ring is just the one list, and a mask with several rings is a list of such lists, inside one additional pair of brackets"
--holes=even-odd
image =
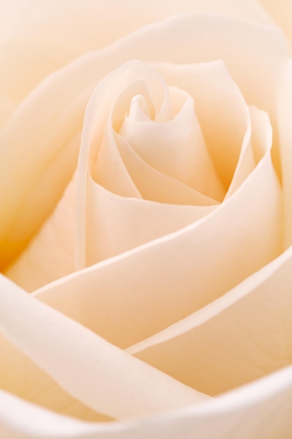
[[(141, 198), (141, 195), (120, 157), (112, 127), (115, 130), (120, 130), (125, 115), (130, 111), (133, 97), (142, 97), (142, 105), (146, 110), (144, 117), (172, 117), (167, 87), (153, 69), (146, 66), (144, 68), (143, 79), (139, 78), (139, 74), (141, 74), (139, 71), (137, 79), (129, 77), (129, 83), (113, 97), (113, 102), (109, 102), (111, 109), (107, 115), (102, 142), (100, 145), (98, 142), (91, 145), (91, 154), (95, 156), (95, 159), (92, 160), (90, 171), (95, 182), (102, 184), (103, 187), (115, 194), (134, 198)], [(133, 70), (135, 72), (135, 68)], [(137, 111), (137, 105), (135, 107)], [(141, 109), (140, 106), (139, 109)], [(89, 120), (89, 123), (93, 124), (94, 122)]]

